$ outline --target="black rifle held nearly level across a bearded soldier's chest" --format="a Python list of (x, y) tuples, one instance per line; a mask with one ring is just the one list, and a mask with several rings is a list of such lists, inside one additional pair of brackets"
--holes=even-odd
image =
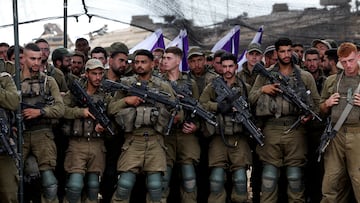
[(167, 125), (166, 132), (165, 132), (165, 135), (170, 134), (170, 130), (171, 130), (172, 124), (174, 122), (175, 116), (176, 116), (177, 112), (180, 110), (180, 105), (179, 105), (178, 101), (170, 100), (169, 93), (151, 91), (143, 83), (134, 83), (130, 86), (127, 86), (125, 84), (122, 84), (119, 82), (114, 82), (112, 80), (104, 80), (104, 81), (102, 81), (102, 85), (106, 90), (109, 90), (111, 92), (121, 90), (132, 96), (140, 97), (150, 104), (155, 104), (156, 102), (158, 102), (158, 103), (164, 104), (167, 107), (173, 108), (174, 111), (171, 115), (170, 121)]

